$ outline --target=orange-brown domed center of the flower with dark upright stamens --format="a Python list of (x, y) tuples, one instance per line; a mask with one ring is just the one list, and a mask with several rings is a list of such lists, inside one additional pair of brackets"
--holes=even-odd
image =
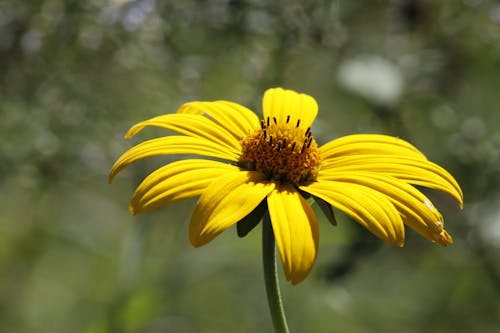
[(269, 180), (301, 185), (316, 179), (320, 157), (311, 128), (278, 123), (276, 118), (261, 120), (261, 129), (243, 139), (240, 165), (260, 171)]

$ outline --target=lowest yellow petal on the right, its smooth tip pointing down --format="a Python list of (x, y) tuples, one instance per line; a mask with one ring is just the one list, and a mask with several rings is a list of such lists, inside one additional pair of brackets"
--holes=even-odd
[(385, 195), (358, 184), (329, 180), (300, 189), (343, 211), (386, 243), (403, 245), (403, 221)]

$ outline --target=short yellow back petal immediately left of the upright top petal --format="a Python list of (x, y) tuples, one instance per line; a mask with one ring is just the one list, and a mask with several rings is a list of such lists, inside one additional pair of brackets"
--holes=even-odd
[(228, 102), (189, 102), (182, 105), (178, 114), (206, 114), (219, 126), (241, 139), (260, 128), (259, 118), (243, 105)]

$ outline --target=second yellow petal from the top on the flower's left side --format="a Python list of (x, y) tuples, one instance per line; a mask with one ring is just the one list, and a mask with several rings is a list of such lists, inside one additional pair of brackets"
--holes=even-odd
[(126, 134), (130, 138), (146, 126), (158, 126), (192, 137), (203, 138), (229, 148), (241, 150), (239, 138), (235, 138), (213, 120), (195, 114), (167, 114), (134, 125)]

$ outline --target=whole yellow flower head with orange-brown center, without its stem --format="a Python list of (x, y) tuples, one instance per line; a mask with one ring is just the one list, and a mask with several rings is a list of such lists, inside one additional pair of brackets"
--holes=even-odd
[(437, 244), (452, 242), (441, 214), (412, 186), (444, 191), (462, 206), (462, 191), (446, 170), (408, 142), (386, 135), (349, 135), (318, 146), (311, 133), (317, 112), (314, 98), (281, 88), (264, 94), (262, 120), (228, 101), (186, 103), (176, 114), (129, 130), (127, 138), (146, 126), (181, 135), (129, 149), (112, 167), (110, 181), (146, 157), (211, 157), (172, 162), (151, 173), (136, 189), (131, 212), (200, 196), (189, 226), (196, 247), (240, 221), (255, 224), (250, 216), (260, 219), (268, 212), (285, 275), (293, 284), (309, 274), (318, 250), (309, 197), (327, 212), (331, 206), (343, 211), (388, 244), (403, 246), (404, 224)]

